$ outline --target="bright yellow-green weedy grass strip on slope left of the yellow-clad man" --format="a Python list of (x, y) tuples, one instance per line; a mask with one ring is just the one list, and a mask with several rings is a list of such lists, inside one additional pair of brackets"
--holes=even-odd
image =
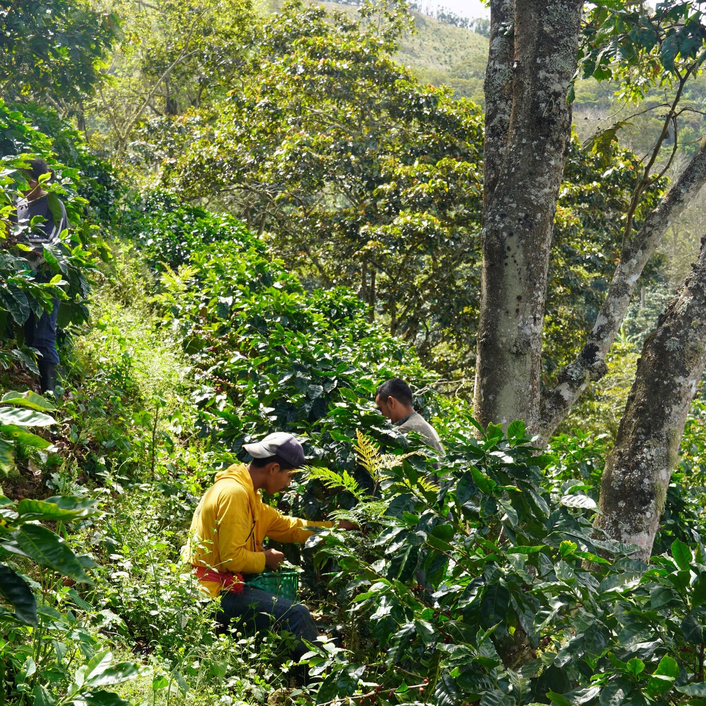
[(151, 283), (136, 252), (117, 246), (92, 295), (91, 325), (73, 332), (67, 361), (74, 396), (63, 411), (83, 426), (59, 481), (95, 496), (102, 510), (71, 537), (99, 564), (85, 620), (115, 661), (152, 667), (109, 688), (131, 703), (261, 703), (287, 683), (280, 638), (217, 635), (215, 603), (181, 556), (215, 460), (196, 433), (193, 372), (150, 301)]

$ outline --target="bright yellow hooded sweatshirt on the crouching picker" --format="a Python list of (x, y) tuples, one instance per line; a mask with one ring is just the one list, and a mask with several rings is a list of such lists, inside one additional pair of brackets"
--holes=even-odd
[[(309, 522), (277, 512), (255, 492), (246, 465), (237, 463), (216, 474), (193, 513), (191, 563), (229, 573), (261, 573), (263, 539), (304, 543), (311, 535), (306, 526), (333, 527), (333, 522)], [(201, 583), (214, 598), (221, 591), (219, 583)]]

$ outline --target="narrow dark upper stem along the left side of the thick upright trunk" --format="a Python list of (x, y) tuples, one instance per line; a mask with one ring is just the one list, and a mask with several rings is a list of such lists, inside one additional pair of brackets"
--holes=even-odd
[(490, 44), (484, 92), (483, 205), (488, 210), (503, 166), (513, 107), (514, 0), (491, 0)]

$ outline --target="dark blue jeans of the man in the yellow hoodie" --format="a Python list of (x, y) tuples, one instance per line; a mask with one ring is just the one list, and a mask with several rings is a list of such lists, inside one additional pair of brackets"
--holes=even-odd
[(301, 638), (313, 642), (318, 638), (318, 630), (314, 625), (309, 609), (301, 603), (294, 603), (285, 598), (275, 598), (273, 594), (252, 588), (243, 587), (242, 593), (223, 592), (221, 594), (221, 609), (216, 620), (228, 625), (233, 618), (251, 623), (257, 630), (268, 628), (284, 628), (299, 638), (299, 644), (294, 648), (294, 657), (301, 659), (309, 647), (301, 642)]

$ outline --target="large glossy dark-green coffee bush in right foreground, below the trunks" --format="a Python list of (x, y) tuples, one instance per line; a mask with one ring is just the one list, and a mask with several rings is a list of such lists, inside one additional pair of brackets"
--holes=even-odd
[(543, 472), (524, 426), (448, 441), (424, 457), (359, 437), (366, 496), (336, 516), (364, 529), (309, 540), (338, 587), (343, 637), (311, 645), (316, 702), (556, 706), (666, 703), (706, 695), (706, 552), (680, 540), (650, 565), (592, 528), (580, 479)]

